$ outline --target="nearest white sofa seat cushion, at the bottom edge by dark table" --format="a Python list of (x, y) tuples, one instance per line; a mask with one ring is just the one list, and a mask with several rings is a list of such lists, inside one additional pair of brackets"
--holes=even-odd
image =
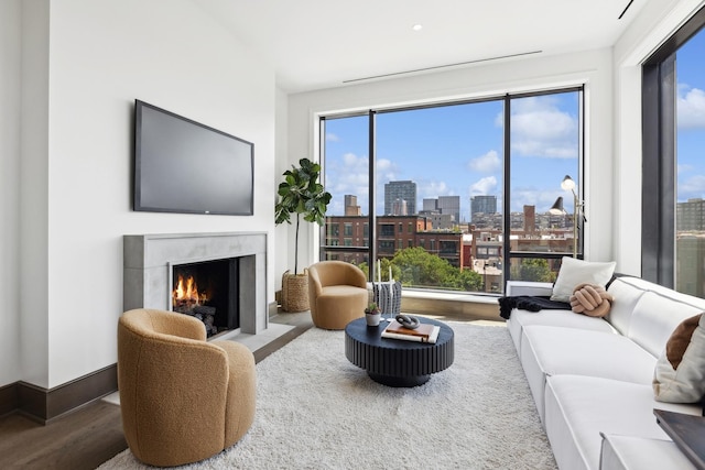
[(599, 469), (695, 470), (695, 467), (670, 439), (647, 439), (643, 437), (603, 434), (603, 450)]

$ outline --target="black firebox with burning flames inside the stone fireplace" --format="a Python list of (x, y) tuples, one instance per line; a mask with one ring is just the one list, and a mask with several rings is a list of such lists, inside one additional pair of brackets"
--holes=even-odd
[(208, 337), (240, 327), (238, 259), (172, 265), (172, 310), (203, 321)]

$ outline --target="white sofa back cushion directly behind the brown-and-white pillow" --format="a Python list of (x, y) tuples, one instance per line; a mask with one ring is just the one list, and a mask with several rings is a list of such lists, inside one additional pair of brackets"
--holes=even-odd
[(654, 358), (661, 356), (669, 337), (681, 321), (705, 310), (695, 303), (679, 302), (673, 297), (647, 292), (637, 302), (631, 316), (627, 336)]

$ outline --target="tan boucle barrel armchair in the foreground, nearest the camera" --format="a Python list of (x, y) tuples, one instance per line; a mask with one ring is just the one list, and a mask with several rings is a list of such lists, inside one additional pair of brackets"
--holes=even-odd
[(235, 341), (206, 341), (203, 323), (135, 309), (118, 321), (124, 438), (144, 463), (171, 467), (218, 453), (254, 419), (254, 358)]

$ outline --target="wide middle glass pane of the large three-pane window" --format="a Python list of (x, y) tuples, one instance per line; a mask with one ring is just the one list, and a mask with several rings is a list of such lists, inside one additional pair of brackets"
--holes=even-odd
[[(482, 271), (473, 262), (470, 200), (501, 200), (502, 106), (492, 100), (377, 116), (379, 256), (399, 269), (404, 285), (484, 289)], [(492, 220), (500, 231), (501, 216)], [(393, 252), (388, 226), (397, 227)]]

